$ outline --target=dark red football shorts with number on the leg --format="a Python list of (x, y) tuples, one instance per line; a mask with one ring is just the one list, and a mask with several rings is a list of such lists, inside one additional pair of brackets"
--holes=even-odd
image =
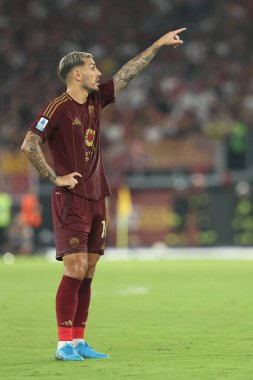
[(88, 200), (65, 189), (52, 193), (56, 259), (69, 253), (104, 254), (105, 199)]

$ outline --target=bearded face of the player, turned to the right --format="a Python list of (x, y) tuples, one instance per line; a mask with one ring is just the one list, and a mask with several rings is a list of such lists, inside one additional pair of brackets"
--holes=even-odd
[(92, 58), (85, 58), (84, 65), (78, 67), (79, 82), (88, 92), (98, 91), (101, 72), (97, 69)]

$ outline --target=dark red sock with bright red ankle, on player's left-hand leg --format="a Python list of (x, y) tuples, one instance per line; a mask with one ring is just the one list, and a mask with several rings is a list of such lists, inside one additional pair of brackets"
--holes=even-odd
[(82, 281), (63, 276), (56, 294), (56, 318), (59, 341), (72, 341), (72, 326)]

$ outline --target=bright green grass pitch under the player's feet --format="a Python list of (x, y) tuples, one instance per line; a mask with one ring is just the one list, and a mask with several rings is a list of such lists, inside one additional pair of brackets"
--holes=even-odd
[(101, 262), (87, 340), (109, 360), (58, 362), (62, 265), (0, 262), (0, 375), (16, 379), (253, 378), (253, 262)]

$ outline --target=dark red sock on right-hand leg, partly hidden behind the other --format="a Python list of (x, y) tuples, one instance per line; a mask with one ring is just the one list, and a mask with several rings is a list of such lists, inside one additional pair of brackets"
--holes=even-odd
[(78, 291), (78, 307), (73, 323), (73, 339), (84, 339), (84, 329), (88, 318), (92, 278), (84, 278)]

